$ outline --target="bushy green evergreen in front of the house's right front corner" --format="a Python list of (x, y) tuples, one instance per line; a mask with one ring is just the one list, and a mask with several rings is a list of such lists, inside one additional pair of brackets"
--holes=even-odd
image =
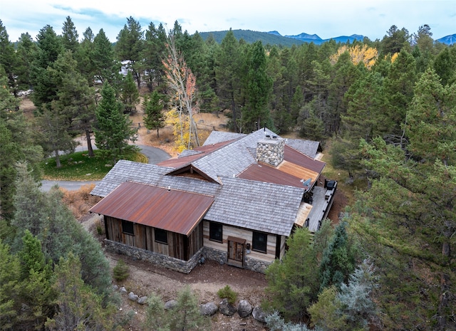
[(266, 292), (271, 298), (264, 304), (287, 319), (302, 321), (318, 293), (316, 252), (307, 228), (296, 229), (286, 244), (282, 261), (276, 260), (266, 269)]

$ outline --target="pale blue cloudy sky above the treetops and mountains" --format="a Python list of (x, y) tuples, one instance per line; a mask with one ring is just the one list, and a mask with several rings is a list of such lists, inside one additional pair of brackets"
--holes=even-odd
[(67, 16), (80, 38), (88, 27), (95, 35), (103, 28), (112, 42), (130, 16), (143, 30), (151, 22), (172, 29), (178, 21), (190, 34), (232, 28), (282, 36), (309, 33), (322, 39), (358, 34), (375, 41), (393, 25), (415, 33), (425, 24), (434, 39), (456, 33), (454, 0), (0, 0), (0, 20), (10, 41), (25, 32), (36, 40), (46, 25), (61, 34)]

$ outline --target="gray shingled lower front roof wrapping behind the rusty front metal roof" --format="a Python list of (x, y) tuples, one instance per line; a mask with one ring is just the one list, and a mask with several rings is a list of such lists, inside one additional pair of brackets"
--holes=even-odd
[(304, 190), (246, 179), (223, 177), (222, 184), (166, 176), (170, 168), (120, 160), (91, 194), (106, 196), (123, 182), (170, 186), (215, 197), (205, 219), (230, 226), (289, 236)]

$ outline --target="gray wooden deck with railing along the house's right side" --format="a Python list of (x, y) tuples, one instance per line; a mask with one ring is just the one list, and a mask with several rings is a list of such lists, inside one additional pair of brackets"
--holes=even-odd
[(336, 186), (331, 191), (323, 188), (322, 186), (314, 186), (313, 198), (311, 211), (309, 212), (309, 231), (315, 233), (321, 226), (323, 219), (328, 216), (328, 212), (334, 201), (334, 195), (336, 194)]

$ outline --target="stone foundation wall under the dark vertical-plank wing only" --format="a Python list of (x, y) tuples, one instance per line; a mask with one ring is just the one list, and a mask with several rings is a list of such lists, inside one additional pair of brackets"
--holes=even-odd
[(182, 261), (178, 258), (172, 258), (162, 254), (146, 251), (145, 249), (136, 248), (124, 245), (116, 241), (105, 239), (105, 248), (114, 253), (120, 253), (138, 260), (147, 261), (157, 266), (162, 266), (171, 270), (179, 271), (180, 273), (190, 273), (198, 264), (199, 258), (202, 256), (204, 247), (201, 248), (189, 261)]

